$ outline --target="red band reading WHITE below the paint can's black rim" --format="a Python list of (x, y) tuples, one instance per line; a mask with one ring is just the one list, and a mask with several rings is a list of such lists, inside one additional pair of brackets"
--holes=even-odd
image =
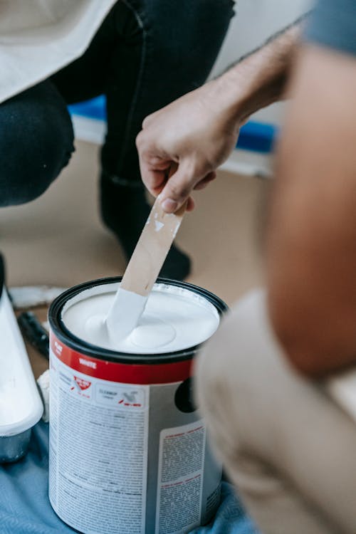
[(162, 364), (126, 364), (108, 362), (91, 356), (80, 354), (66, 345), (57, 337), (50, 335), (51, 350), (58, 360), (83, 375), (122, 384), (169, 384), (183, 382), (192, 375), (192, 360)]

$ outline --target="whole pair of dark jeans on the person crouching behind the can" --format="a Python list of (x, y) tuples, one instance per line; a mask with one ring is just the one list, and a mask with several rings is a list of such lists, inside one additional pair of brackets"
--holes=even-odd
[(140, 180), (142, 120), (204, 82), (233, 14), (233, 0), (118, 1), (83, 56), (0, 105), (0, 206), (47, 189), (74, 150), (67, 104), (100, 94), (108, 112), (102, 169)]

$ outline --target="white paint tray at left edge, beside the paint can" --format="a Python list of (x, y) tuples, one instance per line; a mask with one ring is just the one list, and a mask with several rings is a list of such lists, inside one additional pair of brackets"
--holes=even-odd
[(43, 404), (9, 296), (0, 300), (0, 464), (26, 454)]

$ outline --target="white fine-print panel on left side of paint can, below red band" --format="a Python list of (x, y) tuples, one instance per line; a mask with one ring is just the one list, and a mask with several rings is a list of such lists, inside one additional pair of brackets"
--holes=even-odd
[(88, 377), (51, 354), (50, 500), (68, 525), (145, 532), (149, 392)]

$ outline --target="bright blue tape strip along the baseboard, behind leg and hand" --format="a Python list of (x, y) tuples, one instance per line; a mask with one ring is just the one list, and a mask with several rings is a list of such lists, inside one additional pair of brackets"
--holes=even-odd
[[(69, 110), (73, 115), (95, 120), (106, 120), (105, 96), (100, 95), (92, 100), (72, 104), (69, 106)], [(268, 154), (273, 151), (277, 135), (278, 128), (276, 126), (250, 120), (241, 127), (236, 147)]]

